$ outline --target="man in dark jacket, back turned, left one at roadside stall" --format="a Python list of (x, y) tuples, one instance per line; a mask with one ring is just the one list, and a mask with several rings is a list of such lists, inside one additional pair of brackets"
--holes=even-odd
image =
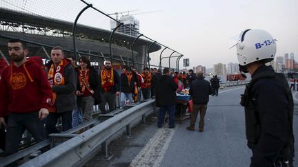
[(166, 116), (166, 111), (169, 115), (169, 128), (175, 128), (175, 105), (177, 101), (176, 90), (177, 84), (170, 77), (170, 69), (164, 68), (163, 75), (159, 77), (156, 85), (156, 104), (159, 108), (159, 116), (157, 127), (161, 128)]

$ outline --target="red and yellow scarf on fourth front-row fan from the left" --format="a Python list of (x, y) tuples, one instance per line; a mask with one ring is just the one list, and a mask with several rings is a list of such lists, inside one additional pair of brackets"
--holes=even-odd
[(115, 82), (113, 69), (104, 68), (101, 70), (101, 87), (104, 89), (104, 91), (110, 91), (110, 87), (113, 87), (114, 85)]

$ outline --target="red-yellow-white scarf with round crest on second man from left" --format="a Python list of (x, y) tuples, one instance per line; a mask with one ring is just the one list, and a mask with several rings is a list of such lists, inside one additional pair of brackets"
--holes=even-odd
[[(48, 81), (50, 82), (51, 86), (54, 85), (64, 85), (65, 78), (64, 78), (64, 68), (68, 65), (68, 62), (64, 59), (62, 59), (57, 66), (57, 68), (54, 68), (54, 63), (51, 65), (49, 71), (48, 71)], [(57, 99), (57, 93), (53, 92), (53, 101), (52, 101), (52, 107), (50, 107), (49, 111), (54, 113), (56, 111), (56, 99)]]

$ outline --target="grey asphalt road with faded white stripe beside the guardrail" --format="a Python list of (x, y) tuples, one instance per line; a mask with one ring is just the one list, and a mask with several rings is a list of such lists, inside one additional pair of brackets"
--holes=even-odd
[[(146, 124), (132, 129), (132, 136), (112, 142), (108, 158), (99, 154), (86, 166), (249, 166), (251, 153), (246, 146), (244, 109), (239, 105), (239, 94), (243, 92), (244, 87), (232, 87), (221, 89), (217, 97), (210, 96), (203, 133), (198, 131), (198, 122), (196, 131), (186, 130), (189, 120), (183, 120), (175, 129), (168, 129), (167, 125), (157, 129), (156, 118), (148, 118)], [(293, 95), (298, 98), (297, 92)], [(298, 166), (298, 158), (295, 160)]]

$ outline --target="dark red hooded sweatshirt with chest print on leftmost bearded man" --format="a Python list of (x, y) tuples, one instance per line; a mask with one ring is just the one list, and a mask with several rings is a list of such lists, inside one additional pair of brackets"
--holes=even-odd
[(20, 67), (13, 63), (0, 80), (0, 117), (8, 113), (32, 113), (48, 109), (52, 88), (41, 65), (27, 60)]

